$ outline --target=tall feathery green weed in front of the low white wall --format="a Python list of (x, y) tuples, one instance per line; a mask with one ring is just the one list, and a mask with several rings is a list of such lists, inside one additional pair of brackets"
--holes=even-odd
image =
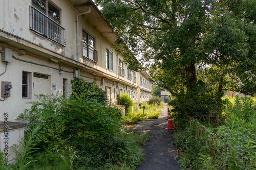
[(40, 135), (40, 129), (41, 127), (36, 125), (27, 133), (27, 136), (22, 141), (19, 141), (19, 145), (16, 145), (16, 148), (11, 148), (18, 156), (17, 158), (13, 158), (16, 161), (15, 169), (26, 169), (28, 164), (37, 161), (32, 159), (31, 154), (39, 149), (35, 148), (35, 142), (36, 138)]

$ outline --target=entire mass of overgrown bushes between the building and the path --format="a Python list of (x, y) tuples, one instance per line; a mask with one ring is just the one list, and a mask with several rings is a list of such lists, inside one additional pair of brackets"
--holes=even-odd
[[(31, 109), (18, 117), (29, 121), (28, 128), (42, 127), (43, 133), (38, 136), (41, 140), (37, 142), (40, 152), (47, 151), (48, 155), (51, 153), (59, 158), (59, 153), (56, 155), (59, 151), (63, 154), (59, 161), (70, 169), (115, 166), (135, 169), (143, 158), (139, 147), (148, 136), (121, 131), (120, 110), (104, 103), (106, 93), (95, 83), (82, 80), (73, 83), (75, 90), (69, 99), (62, 98), (59, 93), (45, 95), (38, 98), (38, 102), (31, 102)], [(137, 142), (135, 136), (143, 140)], [(72, 148), (72, 154), (65, 151), (67, 148)], [(36, 163), (30, 165), (30, 169), (35, 167), (38, 167)]]

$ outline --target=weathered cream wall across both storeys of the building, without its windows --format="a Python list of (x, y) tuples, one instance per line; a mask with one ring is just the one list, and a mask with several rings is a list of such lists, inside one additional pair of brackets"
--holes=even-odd
[[(88, 1), (88, 0), (87, 0)], [(72, 4), (73, 1), (53, 0), (60, 11), (60, 25), (65, 28), (66, 45), (57, 43), (30, 29), (30, 0), (3, 0), (0, 2), (0, 50), (9, 48), (15, 59), (8, 63), (7, 71), (0, 77), (0, 81), (11, 82), (11, 96), (0, 102), (0, 112), (7, 112), (9, 121), (15, 121), (19, 113), (31, 107), (28, 102), (36, 101), (34, 94), (56, 94), (63, 88), (63, 79), (67, 84), (74, 79), (73, 71), (78, 72), (78, 77), (89, 82), (96, 81), (96, 84), (110, 94), (112, 103), (116, 104), (116, 95), (129, 94), (134, 102), (138, 101), (137, 82), (127, 77), (127, 66), (124, 65), (124, 76), (119, 73), (118, 60), (122, 60), (122, 55), (117, 55), (112, 50), (112, 37), (104, 36), (104, 32), (99, 32), (101, 22), (93, 25), (88, 19), (88, 15), (94, 15), (100, 19), (100, 14), (88, 13), (79, 16), (78, 37), (76, 41), (76, 15), (79, 11)], [(91, 6), (94, 8), (94, 6)], [(96, 10), (97, 11), (97, 10)], [(108, 26), (109, 27), (109, 26)], [(109, 27), (110, 29), (110, 27)], [(98, 61), (82, 57), (82, 31), (86, 31), (95, 40), (95, 49), (98, 51)], [(80, 60), (77, 55), (77, 45), (79, 46)], [(105, 50), (113, 53), (113, 71), (106, 68)], [(21, 53), (20, 50), (24, 50)], [(0, 56), (2, 58), (2, 53)], [(53, 62), (52, 59), (54, 59)], [(21, 61), (23, 60), (23, 61)], [(37, 64), (36, 64), (37, 63)], [(0, 74), (5, 71), (5, 62), (0, 61)], [(61, 70), (60, 70), (61, 67)], [(23, 71), (29, 74), (29, 98), (22, 98), (22, 74)], [(48, 76), (47, 82), (34, 78), (34, 74)], [(56, 89), (52, 88), (55, 85)], [(67, 89), (66, 91), (70, 91)], [(0, 98), (3, 100), (3, 98)], [(15, 106), (15, 107), (14, 107)], [(0, 118), (1, 120), (2, 118)]]

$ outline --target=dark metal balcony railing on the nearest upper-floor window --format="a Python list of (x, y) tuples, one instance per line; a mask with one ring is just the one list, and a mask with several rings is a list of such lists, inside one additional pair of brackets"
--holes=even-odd
[(66, 45), (65, 29), (33, 6), (30, 6), (30, 29), (57, 43)]

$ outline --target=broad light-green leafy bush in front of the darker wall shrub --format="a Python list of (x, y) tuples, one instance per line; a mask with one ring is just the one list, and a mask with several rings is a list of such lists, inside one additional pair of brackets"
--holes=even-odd
[(81, 149), (84, 142), (111, 138), (119, 131), (120, 111), (85, 96), (65, 99), (61, 95), (45, 95), (18, 118), (29, 120), (28, 128), (41, 125), (41, 144), (51, 152), (67, 145)]

